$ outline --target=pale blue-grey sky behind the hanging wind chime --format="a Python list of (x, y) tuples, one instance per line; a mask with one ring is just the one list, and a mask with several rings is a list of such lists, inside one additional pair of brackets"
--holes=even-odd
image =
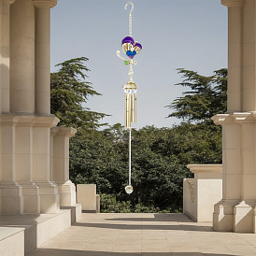
[[(117, 57), (121, 40), (129, 36), (129, 12), (124, 0), (58, 0), (51, 9), (51, 72), (56, 64), (89, 58), (88, 81), (101, 96), (89, 97), (84, 107), (109, 117), (101, 122), (123, 124), (123, 89), (128, 66)], [(211, 76), (227, 67), (227, 8), (220, 0), (133, 0), (133, 38), (143, 49), (135, 56), (137, 122), (171, 127), (170, 105), (187, 90), (178, 68)], [(121, 50), (121, 56), (124, 53)]]

